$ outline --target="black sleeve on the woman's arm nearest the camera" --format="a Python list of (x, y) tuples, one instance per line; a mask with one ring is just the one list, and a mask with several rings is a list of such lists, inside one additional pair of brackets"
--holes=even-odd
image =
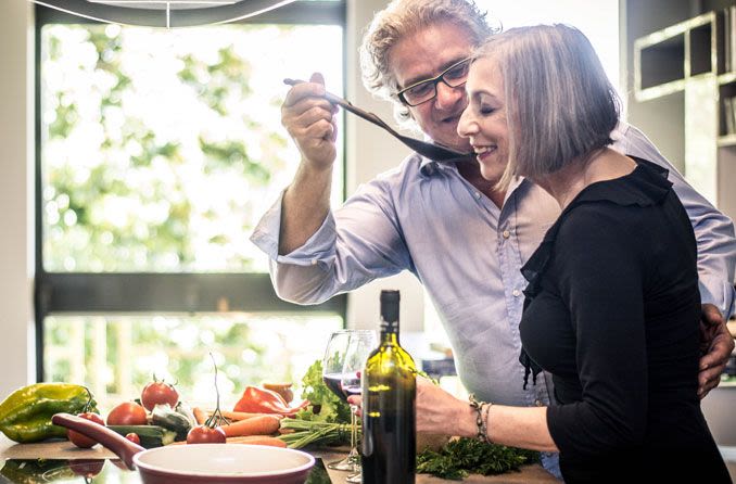
[(555, 259), (564, 265), (550, 278), (575, 331), (582, 399), (548, 407), (547, 425), (570, 455), (614, 451), (645, 435), (645, 269), (633, 246), (640, 238), (620, 219), (611, 211), (576, 207), (555, 243)]

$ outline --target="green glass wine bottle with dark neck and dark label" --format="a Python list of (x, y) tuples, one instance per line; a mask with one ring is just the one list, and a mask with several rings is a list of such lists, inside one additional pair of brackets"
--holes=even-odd
[(415, 482), (416, 367), (398, 344), (398, 291), (381, 291), (381, 341), (361, 373), (365, 484)]

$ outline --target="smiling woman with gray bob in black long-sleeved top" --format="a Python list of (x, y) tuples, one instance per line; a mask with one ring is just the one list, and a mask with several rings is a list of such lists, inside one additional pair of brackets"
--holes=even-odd
[(528, 377), (551, 373), (557, 402), (469, 407), (422, 384), (418, 430), (559, 451), (568, 483), (731, 482), (696, 393), (693, 228), (664, 169), (608, 148), (619, 101), (588, 40), (563, 25), (493, 36), (466, 89), (458, 132), (483, 176), (525, 177), (562, 209), (522, 268), (520, 323)]

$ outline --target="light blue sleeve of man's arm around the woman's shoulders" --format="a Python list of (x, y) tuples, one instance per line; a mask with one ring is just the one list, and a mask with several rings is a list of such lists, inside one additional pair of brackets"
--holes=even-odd
[(642, 131), (622, 123), (611, 137), (613, 148), (621, 153), (648, 160), (670, 170), (669, 180), (690, 218), (698, 243), (701, 302), (715, 305), (728, 319), (735, 309), (736, 238), (733, 221), (695, 191)]

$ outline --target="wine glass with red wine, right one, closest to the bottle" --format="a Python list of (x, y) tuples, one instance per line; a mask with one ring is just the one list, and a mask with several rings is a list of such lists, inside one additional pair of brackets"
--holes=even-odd
[[(347, 351), (345, 352), (344, 364), (342, 367), (341, 387), (342, 392), (347, 398), (351, 395), (359, 395), (361, 393), (360, 372), (366, 365), (366, 359), (370, 353), (378, 346), (378, 337), (376, 331), (360, 330), (351, 335), (347, 343)], [(356, 441), (356, 410), (355, 405), (351, 405), (351, 454), (355, 454), (356, 468), (354, 473), (347, 476), (345, 482), (357, 483), (361, 482), (360, 477), (360, 462), (357, 458)]]

